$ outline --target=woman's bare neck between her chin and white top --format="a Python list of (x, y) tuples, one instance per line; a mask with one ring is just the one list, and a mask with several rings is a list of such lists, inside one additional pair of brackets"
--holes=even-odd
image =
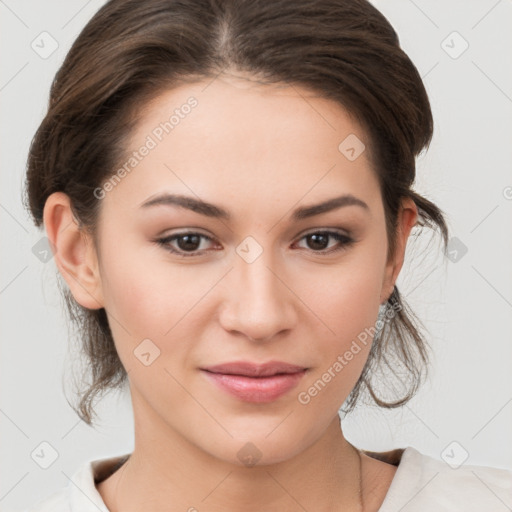
[(168, 510), (170, 505), (190, 512), (362, 510), (361, 461), (338, 417), (303, 452), (252, 467), (219, 460), (168, 427), (159, 431), (158, 421), (140, 417), (148, 421), (135, 421), (132, 455), (98, 485), (111, 512)]

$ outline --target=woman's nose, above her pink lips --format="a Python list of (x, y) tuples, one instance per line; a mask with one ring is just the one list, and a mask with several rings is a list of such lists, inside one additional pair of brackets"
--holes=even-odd
[(235, 258), (224, 283), (220, 322), (226, 331), (252, 342), (265, 342), (290, 331), (296, 324), (296, 296), (287, 275), (267, 253), (252, 263)]

